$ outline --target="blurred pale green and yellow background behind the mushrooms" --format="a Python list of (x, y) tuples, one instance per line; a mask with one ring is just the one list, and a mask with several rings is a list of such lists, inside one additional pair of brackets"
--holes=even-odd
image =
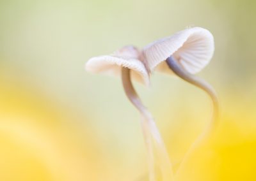
[[(0, 180), (147, 180), (140, 115), (120, 78), (84, 64), (191, 26), (214, 35), (198, 76), (218, 92), (222, 117), (178, 180), (256, 180), (255, 2), (1, 0)], [(150, 89), (135, 86), (177, 170), (211, 119), (211, 100), (161, 73)]]

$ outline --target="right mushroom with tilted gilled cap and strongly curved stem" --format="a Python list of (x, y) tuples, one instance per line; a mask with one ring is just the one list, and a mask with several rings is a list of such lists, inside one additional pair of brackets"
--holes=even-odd
[(179, 31), (173, 36), (154, 41), (143, 48), (143, 57), (147, 60), (149, 71), (156, 68), (165, 73), (175, 73), (183, 80), (203, 89), (212, 99), (212, 120), (192, 147), (205, 138), (206, 133), (212, 133), (218, 125), (219, 104), (216, 92), (209, 83), (193, 75), (209, 63), (213, 53), (214, 38), (209, 31), (201, 27)]

